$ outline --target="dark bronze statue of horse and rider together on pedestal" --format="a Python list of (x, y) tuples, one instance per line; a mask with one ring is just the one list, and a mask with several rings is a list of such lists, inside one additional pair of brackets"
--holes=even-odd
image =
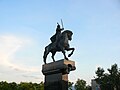
[(56, 52), (61, 51), (64, 55), (64, 59), (66, 60), (68, 60), (68, 58), (65, 54), (65, 50), (67, 51), (72, 50), (72, 52), (68, 55), (68, 57), (70, 57), (73, 54), (75, 49), (70, 48), (69, 43), (68, 43), (69, 40), (72, 40), (73, 33), (70, 30), (64, 30), (63, 32), (61, 32), (62, 30), (64, 30), (64, 28), (61, 29), (60, 25), (58, 24), (55, 35), (53, 35), (50, 38), (51, 43), (45, 47), (45, 51), (43, 55), (45, 64), (46, 64), (46, 59), (47, 59), (47, 55), (49, 54), (49, 52), (52, 53), (51, 57), (54, 62), (55, 62), (54, 55), (56, 54)]

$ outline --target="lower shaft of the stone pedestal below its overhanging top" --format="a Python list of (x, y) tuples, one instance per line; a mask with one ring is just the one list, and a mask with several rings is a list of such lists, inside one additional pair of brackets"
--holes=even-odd
[(68, 74), (47, 75), (44, 85), (45, 90), (68, 90)]

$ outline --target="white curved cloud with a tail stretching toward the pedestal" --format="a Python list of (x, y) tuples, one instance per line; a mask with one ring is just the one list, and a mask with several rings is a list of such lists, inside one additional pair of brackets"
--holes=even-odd
[(29, 39), (20, 38), (14, 35), (0, 36), (0, 66), (9, 67), (15, 71), (37, 72), (39, 67), (25, 67), (24, 64), (12, 63), (16, 52), (32, 43)]

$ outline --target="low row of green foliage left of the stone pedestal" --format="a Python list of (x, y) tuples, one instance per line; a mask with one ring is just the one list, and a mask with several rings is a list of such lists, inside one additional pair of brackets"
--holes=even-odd
[(44, 84), (21, 82), (16, 84), (15, 82), (7, 83), (6, 81), (0, 82), (0, 90), (44, 90)]

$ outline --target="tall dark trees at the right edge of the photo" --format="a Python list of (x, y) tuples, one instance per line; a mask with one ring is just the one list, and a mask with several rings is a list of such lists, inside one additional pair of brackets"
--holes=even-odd
[(120, 68), (117, 64), (107, 69), (108, 73), (101, 67), (98, 67), (96, 73), (96, 82), (100, 85), (101, 90), (120, 90)]

